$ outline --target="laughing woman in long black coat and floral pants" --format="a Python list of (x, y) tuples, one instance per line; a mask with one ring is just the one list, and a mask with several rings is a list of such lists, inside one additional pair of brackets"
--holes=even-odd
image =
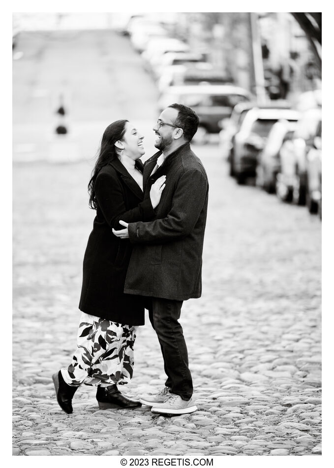
[(132, 378), (133, 345), (138, 326), (144, 325), (144, 298), (123, 293), (132, 247), (112, 228), (122, 228), (119, 220), (152, 219), (165, 187), (162, 176), (143, 201), (139, 161), (145, 154), (143, 138), (127, 120), (109, 125), (88, 185), (96, 217), (84, 257), (78, 347), (68, 368), (52, 376), (58, 403), (68, 414), (73, 411), (73, 395), (83, 383), (97, 385), (101, 409), (141, 406), (123, 396), (116, 385)]

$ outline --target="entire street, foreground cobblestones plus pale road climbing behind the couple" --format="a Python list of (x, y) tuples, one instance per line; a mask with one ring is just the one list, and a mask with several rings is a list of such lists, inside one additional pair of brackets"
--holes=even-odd
[[(76, 345), (95, 215), (92, 158), (105, 126), (120, 118), (139, 122), (150, 157), (157, 93), (123, 36), (22, 37), (14, 63), (13, 454), (321, 454), (321, 222), (304, 207), (238, 186), (214, 142), (193, 146), (210, 183), (203, 294), (184, 302), (180, 320), (198, 411), (103, 411), (85, 385), (73, 414), (61, 411), (51, 375)], [(69, 133), (57, 137), (50, 102), (63, 83)], [(73, 151), (78, 157), (67, 158)], [(122, 391), (139, 397), (164, 382), (146, 316), (134, 377)]]

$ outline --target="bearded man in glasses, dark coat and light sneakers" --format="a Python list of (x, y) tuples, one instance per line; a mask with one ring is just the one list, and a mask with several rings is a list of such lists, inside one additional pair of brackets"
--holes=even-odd
[(114, 231), (133, 244), (124, 293), (151, 298), (149, 315), (163, 356), (166, 387), (140, 401), (151, 411), (184, 414), (196, 411), (188, 353), (178, 322), (182, 302), (202, 291), (202, 251), (208, 206), (208, 177), (190, 149), (199, 119), (190, 107), (172, 104), (153, 128), (158, 151), (145, 163), (145, 197), (166, 175), (161, 200), (150, 222), (124, 223)]

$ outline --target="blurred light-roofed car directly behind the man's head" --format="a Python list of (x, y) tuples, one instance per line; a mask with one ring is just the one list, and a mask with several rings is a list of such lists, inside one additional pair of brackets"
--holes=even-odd
[(218, 122), (229, 117), (238, 102), (250, 99), (247, 90), (233, 85), (170, 86), (162, 93), (158, 109), (161, 112), (174, 102), (194, 109), (200, 125), (193, 141), (206, 143), (208, 134), (219, 132)]

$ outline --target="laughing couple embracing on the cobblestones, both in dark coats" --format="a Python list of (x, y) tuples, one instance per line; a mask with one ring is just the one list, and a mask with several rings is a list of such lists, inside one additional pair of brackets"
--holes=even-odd
[[(70, 365), (52, 376), (57, 401), (68, 414), (83, 383), (97, 386), (101, 409), (141, 404), (161, 414), (197, 409), (178, 320), (182, 302), (201, 296), (209, 185), (190, 148), (198, 124), (190, 107), (164, 109), (153, 127), (159, 151), (144, 165), (144, 137), (130, 122), (118, 120), (103, 134), (89, 183), (96, 217), (84, 257), (77, 350)], [(132, 378), (145, 308), (167, 380), (157, 395), (135, 401), (117, 386)]]

